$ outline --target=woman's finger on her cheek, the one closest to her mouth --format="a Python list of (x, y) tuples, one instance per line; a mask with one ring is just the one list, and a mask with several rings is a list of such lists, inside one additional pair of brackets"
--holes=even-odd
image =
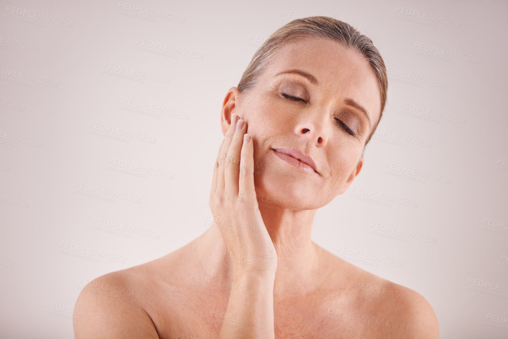
[[(246, 142), (248, 139), (248, 142)], [(245, 133), (243, 137), (242, 151), (240, 156), (240, 178), (238, 190), (244, 192), (243, 198), (254, 200), (257, 205), (256, 189), (254, 187), (254, 142), (252, 137)]]

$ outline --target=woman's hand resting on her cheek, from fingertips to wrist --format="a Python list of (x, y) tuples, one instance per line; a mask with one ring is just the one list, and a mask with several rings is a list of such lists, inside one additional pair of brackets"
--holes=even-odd
[(235, 276), (252, 271), (275, 273), (277, 253), (254, 187), (253, 141), (246, 134), (246, 122), (237, 119), (233, 113), (217, 153), (209, 205), (232, 257)]

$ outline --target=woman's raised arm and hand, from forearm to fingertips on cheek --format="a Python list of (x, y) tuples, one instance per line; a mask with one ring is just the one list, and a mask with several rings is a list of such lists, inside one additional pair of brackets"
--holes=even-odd
[[(276, 263), (277, 253), (258, 208), (253, 141), (246, 135), (246, 123), (241, 119), (236, 122), (237, 118), (233, 113), (232, 124), (217, 154), (209, 203), (214, 223), (230, 254), (239, 254), (246, 260), (232, 261), (234, 279), (228, 307), (225, 314), (215, 315), (224, 319), (218, 338), (274, 338), (276, 268), (251, 264), (249, 258), (261, 257), (264, 262)], [(241, 228), (240, 225), (252, 227)], [(245, 286), (258, 293), (245, 293), (235, 286)]]

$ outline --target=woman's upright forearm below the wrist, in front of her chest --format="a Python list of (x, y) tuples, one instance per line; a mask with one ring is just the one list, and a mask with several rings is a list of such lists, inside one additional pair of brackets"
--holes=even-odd
[(235, 276), (228, 308), (221, 314), (219, 339), (275, 338), (273, 325), (273, 272)]

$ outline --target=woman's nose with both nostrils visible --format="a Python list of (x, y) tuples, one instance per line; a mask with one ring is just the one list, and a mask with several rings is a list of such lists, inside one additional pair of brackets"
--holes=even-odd
[(330, 127), (326, 123), (329, 114), (326, 109), (320, 109), (301, 117), (295, 127), (295, 134), (303, 137), (308, 144), (324, 147), (328, 142)]

